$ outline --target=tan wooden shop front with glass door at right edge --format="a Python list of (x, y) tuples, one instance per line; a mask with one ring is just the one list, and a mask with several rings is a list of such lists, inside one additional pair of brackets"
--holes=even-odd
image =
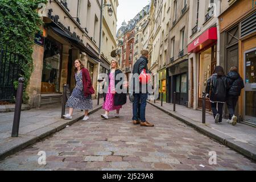
[[(237, 1), (219, 16), (220, 64), (228, 72), (237, 66), (245, 88), (235, 114), (239, 121), (256, 125), (256, 8), (251, 1)], [(241, 9), (243, 7), (243, 9)], [(228, 115), (228, 110), (225, 110)]]

